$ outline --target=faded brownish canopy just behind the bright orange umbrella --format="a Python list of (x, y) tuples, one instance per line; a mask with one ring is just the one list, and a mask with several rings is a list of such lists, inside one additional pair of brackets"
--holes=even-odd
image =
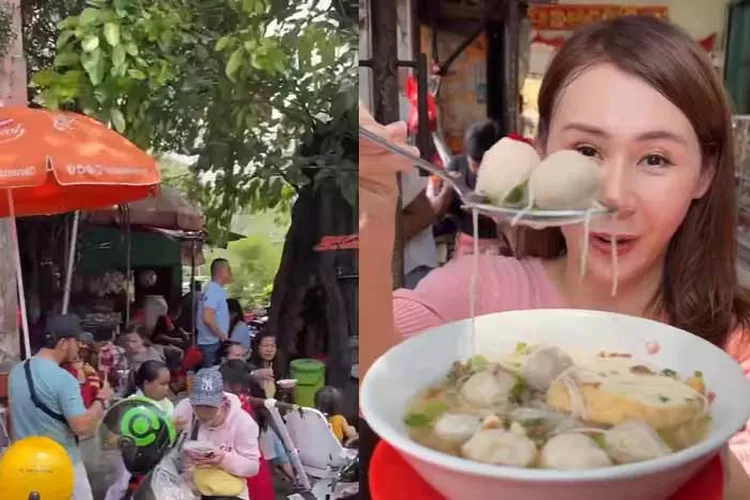
[[(117, 207), (111, 207), (90, 212), (87, 220), (95, 224), (120, 224), (123, 215)], [(128, 215), (135, 226), (159, 229), (202, 231), (205, 224), (203, 212), (171, 186), (161, 186), (156, 196), (131, 203)]]

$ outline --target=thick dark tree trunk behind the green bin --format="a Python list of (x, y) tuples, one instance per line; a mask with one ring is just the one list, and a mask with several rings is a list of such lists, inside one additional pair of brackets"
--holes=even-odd
[[(312, 314), (327, 346), (326, 383), (352, 396), (356, 414), (356, 390), (350, 387), (352, 353), (350, 339), (357, 337), (357, 262), (355, 250), (316, 252), (324, 236), (346, 236), (356, 233), (351, 207), (341, 196), (335, 180), (317, 188), (305, 187), (292, 208), (292, 223), (284, 242), (279, 271), (274, 279), (267, 328), (276, 335), (279, 345), (278, 367), (286, 372), (289, 360), (315, 353), (302, 352), (299, 334), (305, 332), (305, 317)], [(306, 301), (310, 294), (322, 300)], [(320, 309), (305, 311), (305, 304)], [(320, 345), (310, 342), (310, 345)], [(304, 348), (303, 348), (304, 349)]]

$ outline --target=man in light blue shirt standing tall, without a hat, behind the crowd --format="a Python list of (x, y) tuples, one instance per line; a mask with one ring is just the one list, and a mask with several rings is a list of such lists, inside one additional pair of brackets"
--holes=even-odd
[(224, 287), (232, 282), (232, 268), (226, 259), (211, 262), (211, 281), (206, 285), (198, 304), (198, 349), (203, 353), (203, 366), (214, 366), (221, 343), (229, 338), (229, 307)]

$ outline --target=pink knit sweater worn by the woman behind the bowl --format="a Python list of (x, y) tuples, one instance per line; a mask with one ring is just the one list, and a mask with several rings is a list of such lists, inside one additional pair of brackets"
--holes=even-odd
[[(468, 291), (473, 259), (461, 257), (424, 278), (416, 290), (398, 290), (393, 309), (396, 330), (410, 336), (443, 323), (470, 316)], [(479, 258), (476, 312), (478, 315), (523, 309), (565, 307), (538, 259), (517, 260), (483, 255)], [(733, 335), (729, 352), (750, 374), (750, 345)], [(750, 423), (736, 434), (730, 448), (750, 473)]]

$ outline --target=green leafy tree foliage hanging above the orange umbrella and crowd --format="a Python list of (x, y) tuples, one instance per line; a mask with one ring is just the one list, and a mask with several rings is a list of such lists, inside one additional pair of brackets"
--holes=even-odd
[[(27, 38), (59, 20), (53, 58), (32, 41), (35, 99), (190, 157), (190, 175), (168, 182), (201, 202), (214, 241), (233, 214), (288, 207), (316, 177), (336, 176), (354, 207), (357, 153), (344, 147), (356, 143), (353, 1), (30, 3)], [(321, 130), (327, 140), (315, 140)]]

